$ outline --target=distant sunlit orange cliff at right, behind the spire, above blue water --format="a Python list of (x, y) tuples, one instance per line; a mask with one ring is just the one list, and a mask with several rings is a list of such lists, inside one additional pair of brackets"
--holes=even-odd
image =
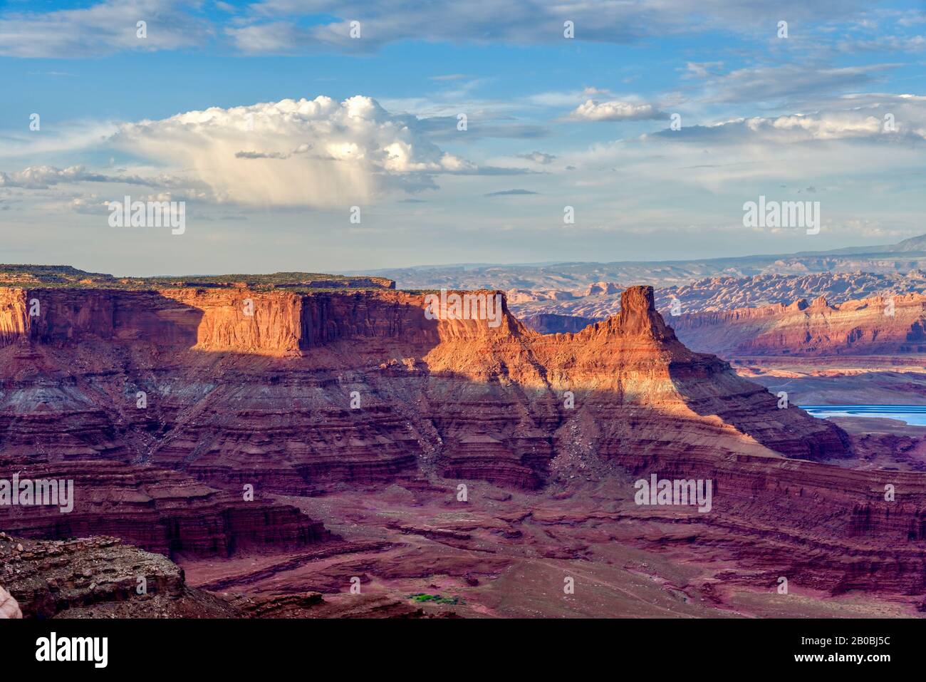
[(672, 318), (684, 343), (724, 358), (926, 353), (926, 295), (870, 297), (830, 305), (694, 312)]

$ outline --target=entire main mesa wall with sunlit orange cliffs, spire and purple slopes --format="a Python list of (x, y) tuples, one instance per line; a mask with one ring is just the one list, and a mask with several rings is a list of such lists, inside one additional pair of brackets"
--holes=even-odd
[[(535, 488), (576, 429), (612, 458), (847, 451), (831, 423), (778, 410), (682, 346), (645, 287), (568, 335), (530, 331), (504, 300), (495, 322), (429, 320), (423, 295), (388, 289), (10, 295), (4, 328), (20, 331), (0, 348), (0, 447), (24, 458), (148, 462), (303, 495), (429, 471)], [(32, 299), (40, 313), (23, 318)]]

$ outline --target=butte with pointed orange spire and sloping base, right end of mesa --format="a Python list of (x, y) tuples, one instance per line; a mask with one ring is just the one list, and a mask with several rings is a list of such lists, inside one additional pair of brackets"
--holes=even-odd
[(726, 362), (684, 347), (656, 312), (650, 287), (624, 292), (618, 316), (566, 335), (565, 344), (558, 338), (544, 336), (538, 345), (547, 356), (546, 376), (592, 412), (599, 452), (623, 457), (759, 446), (800, 459), (847, 452), (845, 434), (832, 424), (779, 409), (775, 397)]

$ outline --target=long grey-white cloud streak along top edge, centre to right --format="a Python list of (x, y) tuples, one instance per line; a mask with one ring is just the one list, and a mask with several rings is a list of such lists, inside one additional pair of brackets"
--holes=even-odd
[[(704, 3), (662, 0), (613, 3), (548, 3), (544, 0), (494, 0), (457, 3), (455, 0), (397, 4), (394, 0), (264, 0), (249, 7), (250, 23), (227, 31), (248, 53), (294, 53), (319, 49), (369, 51), (398, 41), (458, 43), (554, 44), (563, 41), (564, 22), (574, 26), (574, 40), (630, 44), (672, 33), (753, 30), (757, 21), (782, 16), (832, 20), (853, 16), (861, 3), (849, 0)], [(329, 23), (300, 26), (280, 17), (332, 17)], [(361, 38), (350, 38), (350, 21), (359, 20)], [(773, 24), (772, 24), (773, 25)]]

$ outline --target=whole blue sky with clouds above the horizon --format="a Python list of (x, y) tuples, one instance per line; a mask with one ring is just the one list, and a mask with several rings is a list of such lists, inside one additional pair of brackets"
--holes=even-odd
[[(347, 271), (899, 241), (926, 232), (924, 10), (7, 2), (0, 260)], [(186, 231), (110, 227), (127, 195), (185, 201)], [(820, 201), (820, 234), (744, 227), (760, 195)]]

